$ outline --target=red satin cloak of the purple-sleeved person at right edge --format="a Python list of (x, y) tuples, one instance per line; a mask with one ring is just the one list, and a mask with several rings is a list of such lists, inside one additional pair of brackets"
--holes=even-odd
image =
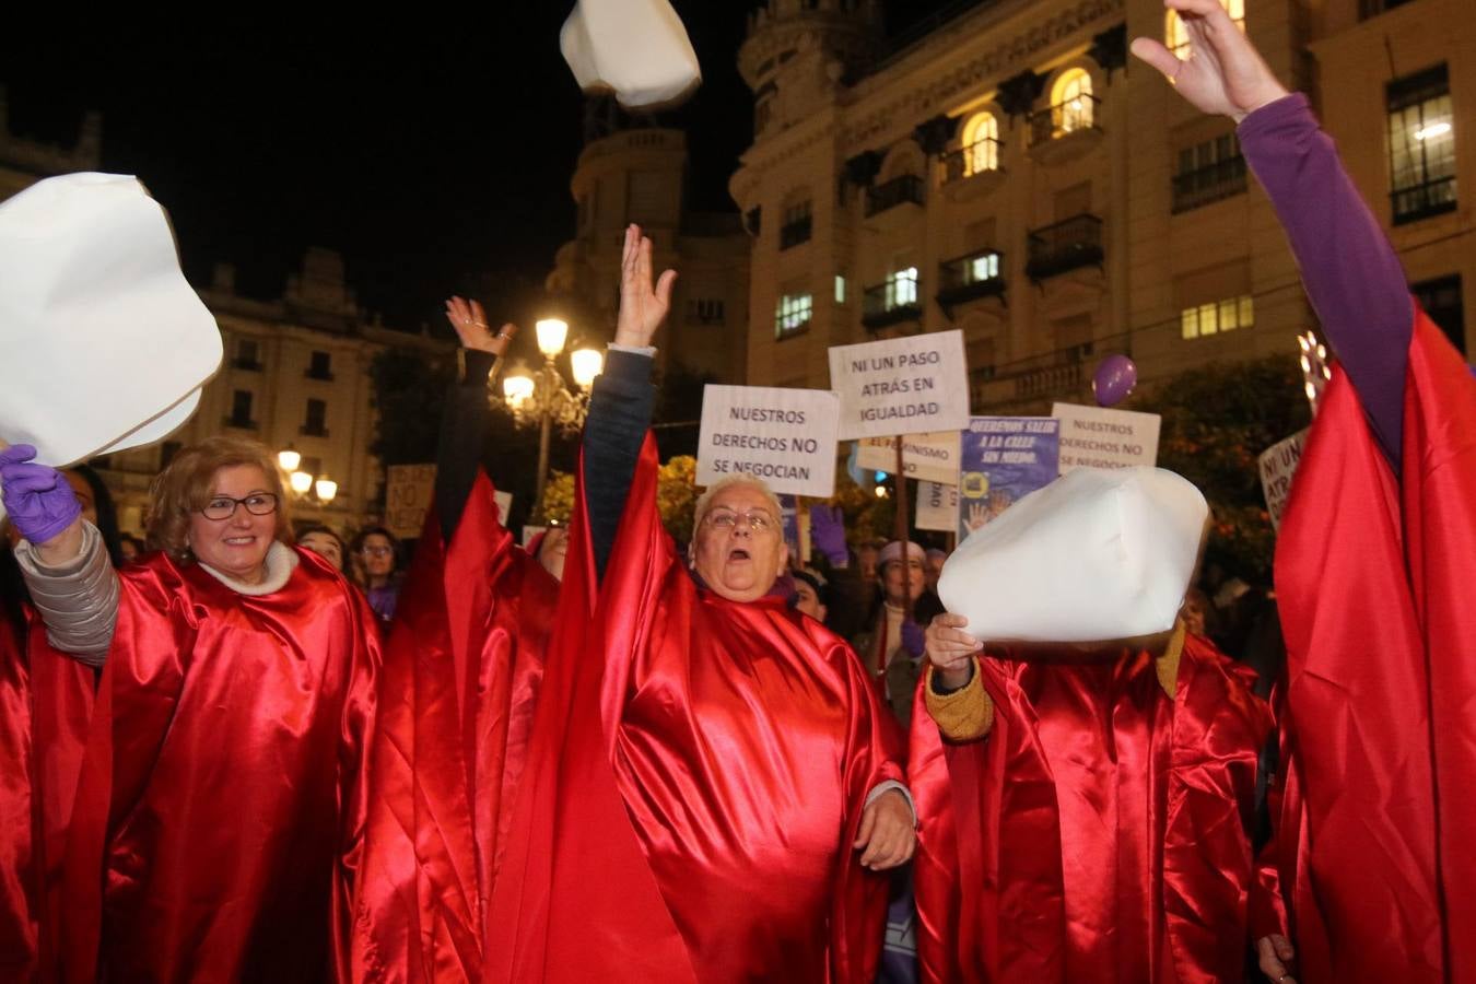
[(1277, 541), (1299, 981), (1476, 981), (1476, 382), (1421, 313), (1402, 481), (1334, 378)]

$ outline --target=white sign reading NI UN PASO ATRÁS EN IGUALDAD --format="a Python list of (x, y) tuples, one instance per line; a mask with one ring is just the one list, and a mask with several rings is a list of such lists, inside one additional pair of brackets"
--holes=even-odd
[(830, 360), (841, 440), (968, 426), (962, 332), (838, 345)]

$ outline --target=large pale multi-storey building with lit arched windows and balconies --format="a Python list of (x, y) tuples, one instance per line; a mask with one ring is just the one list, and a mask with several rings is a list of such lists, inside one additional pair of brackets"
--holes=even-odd
[[(1314, 97), (1464, 347), (1473, 19), (1458, 0), (1222, 1)], [(827, 388), (830, 347), (945, 329), (964, 332), (976, 413), (1089, 400), (1111, 353), (1147, 387), (1296, 357), (1315, 313), (1234, 125), (1129, 63), (1135, 35), (1185, 41), (1159, 0), (956, 3), (890, 40), (878, 7), (769, 0), (750, 18), (754, 142), (731, 181), (757, 230), (750, 384)]]

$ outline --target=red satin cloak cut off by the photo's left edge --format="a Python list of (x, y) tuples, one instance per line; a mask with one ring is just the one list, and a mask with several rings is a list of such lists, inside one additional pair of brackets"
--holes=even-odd
[(93, 670), (0, 612), (0, 980), (53, 980), (66, 822)]

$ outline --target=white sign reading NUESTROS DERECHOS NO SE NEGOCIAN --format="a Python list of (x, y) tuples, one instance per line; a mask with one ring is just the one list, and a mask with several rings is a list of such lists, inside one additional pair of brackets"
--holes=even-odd
[(707, 387), (697, 484), (747, 472), (776, 493), (835, 493), (838, 403), (824, 389)]

